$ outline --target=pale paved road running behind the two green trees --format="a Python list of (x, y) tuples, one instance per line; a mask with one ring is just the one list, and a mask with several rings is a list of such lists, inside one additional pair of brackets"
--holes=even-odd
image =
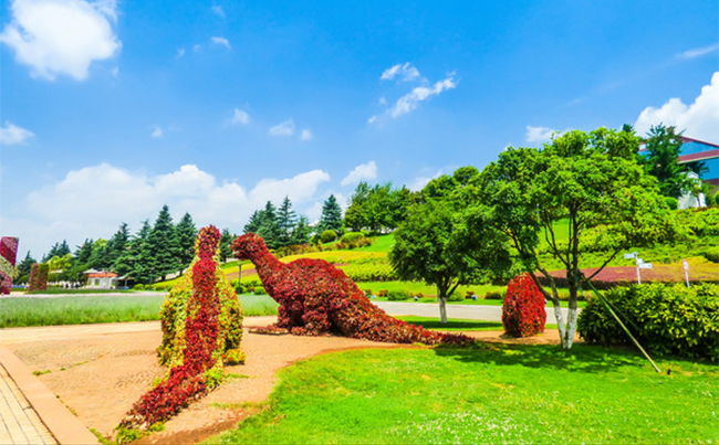
[[(420, 317), (439, 318), (439, 304), (435, 303), (398, 303), (398, 301), (372, 301), (393, 316), (416, 315)], [(580, 309), (581, 311), (582, 309)], [(562, 316), (566, 320), (567, 310), (562, 308)], [(447, 305), (448, 318), (463, 318), (468, 320), (502, 321), (501, 306), (480, 305)], [(554, 307), (546, 307), (546, 321), (556, 322)]]

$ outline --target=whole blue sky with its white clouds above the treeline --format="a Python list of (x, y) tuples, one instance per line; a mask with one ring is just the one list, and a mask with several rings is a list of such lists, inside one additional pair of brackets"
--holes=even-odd
[(553, 130), (719, 142), (717, 1), (0, 2), (0, 232), (20, 255), (290, 195), (419, 189)]

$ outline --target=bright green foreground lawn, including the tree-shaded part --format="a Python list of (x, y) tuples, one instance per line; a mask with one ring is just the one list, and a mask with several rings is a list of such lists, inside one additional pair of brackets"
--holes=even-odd
[(280, 372), (209, 444), (716, 443), (719, 371), (585, 345), (361, 350)]

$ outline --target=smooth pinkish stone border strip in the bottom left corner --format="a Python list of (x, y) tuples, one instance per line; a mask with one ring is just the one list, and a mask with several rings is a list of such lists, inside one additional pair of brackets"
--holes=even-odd
[(0, 345), (2, 365), (60, 444), (100, 445), (80, 420), (8, 348)]

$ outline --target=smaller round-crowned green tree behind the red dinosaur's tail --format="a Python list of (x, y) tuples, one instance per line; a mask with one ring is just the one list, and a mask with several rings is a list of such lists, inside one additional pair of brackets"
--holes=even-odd
[(452, 200), (411, 205), (395, 231), (389, 261), (400, 279), (437, 287), (439, 316), (447, 322), (447, 299), (459, 285), (479, 283), (491, 268), (509, 267), (506, 236)]

